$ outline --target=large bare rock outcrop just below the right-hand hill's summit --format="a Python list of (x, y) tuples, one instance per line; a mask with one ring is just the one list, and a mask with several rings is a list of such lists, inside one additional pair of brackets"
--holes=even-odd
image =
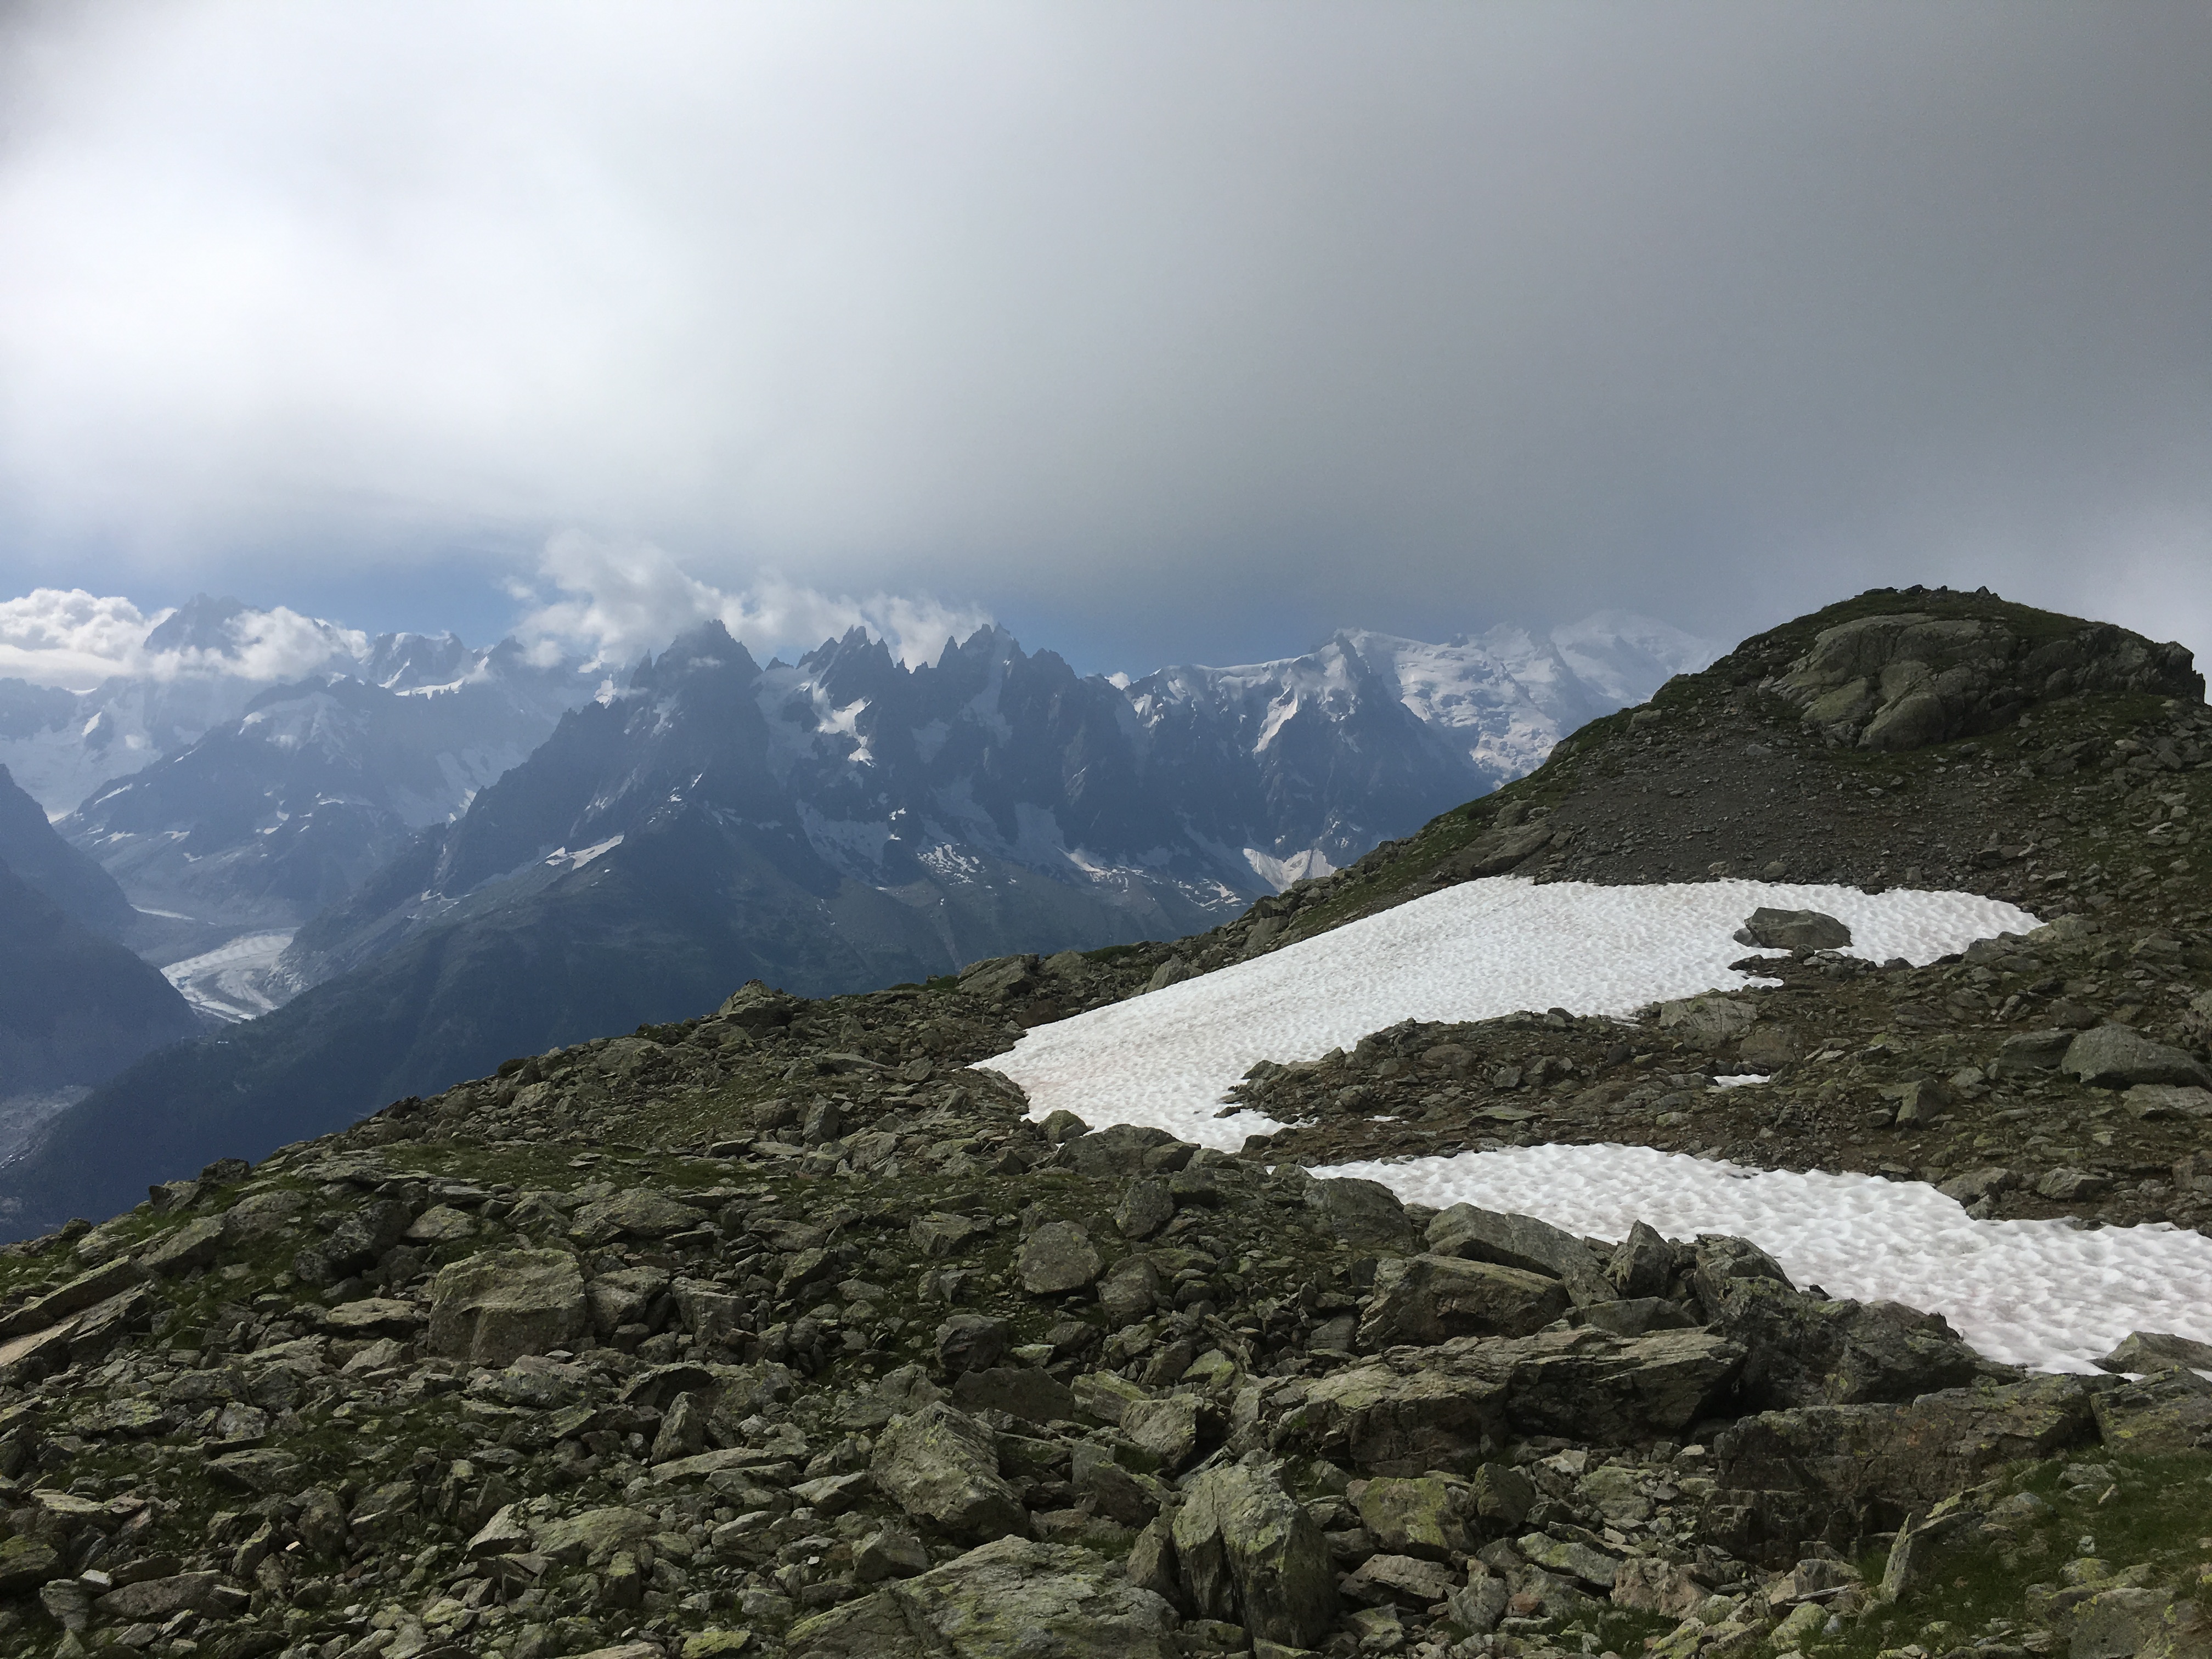
[(2201, 701), (2205, 684), (2188, 650), (2126, 628), (2084, 624), (2033, 639), (1995, 617), (1900, 611), (1823, 630), (1776, 690), (1829, 743), (1918, 750), (1993, 732), (2048, 697), (2104, 690)]

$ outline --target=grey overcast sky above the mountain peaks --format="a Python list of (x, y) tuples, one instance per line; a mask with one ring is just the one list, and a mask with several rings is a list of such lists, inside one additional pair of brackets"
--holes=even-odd
[(7, 595), (2212, 657), (2205, 4), (7, 15)]

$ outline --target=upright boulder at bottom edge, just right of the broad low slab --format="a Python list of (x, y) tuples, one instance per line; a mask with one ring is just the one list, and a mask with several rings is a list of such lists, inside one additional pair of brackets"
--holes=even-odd
[(1201, 1617), (1261, 1641), (1318, 1648), (1336, 1621), (1329, 1542), (1263, 1458), (1208, 1469), (1175, 1515), (1183, 1590)]

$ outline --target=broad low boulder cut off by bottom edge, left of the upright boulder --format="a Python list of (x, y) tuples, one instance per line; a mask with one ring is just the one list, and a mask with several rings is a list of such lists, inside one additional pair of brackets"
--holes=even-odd
[(1117, 1562), (1000, 1537), (918, 1577), (801, 1619), (792, 1659), (1177, 1659), (1175, 1608)]

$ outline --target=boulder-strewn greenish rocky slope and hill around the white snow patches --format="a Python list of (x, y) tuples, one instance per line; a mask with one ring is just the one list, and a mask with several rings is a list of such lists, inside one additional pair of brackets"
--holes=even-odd
[[(1590, 1241), (1305, 1168), (1648, 1137), (2205, 1223), (2201, 681), (2070, 624), (2075, 684), (2006, 701), (2037, 613), (1856, 604), (1975, 626), (1887, 628), (1807, 726), (1790, 697), (1856, 619), (1823, 613), (1208, 936), (750, 984), (7, 1248), (0, 1650), (2212, 1655), (2212, 1352), (2141, 1334), (2031, 1376), (1741, 1239)], [(1717, 812), (1705, 865), (1803, 841), (1823, 869), (1792, 876), (2039, 876), (2064, 920), (1907, 969), (1765, 918), (1809, 929), (1767, 933), (1796, 951), (1759, 958), (1772, 989), (1261, 1068), (1241, 1093), (1312, 1126), (1237, 1157), (1031, 1121), (978, 1066), (1438, 880), (1681, 878), (1683, 754), (1774, 803)], [(1641, 856), (1613, 799), (1666, 860), (1604, 865)]]

